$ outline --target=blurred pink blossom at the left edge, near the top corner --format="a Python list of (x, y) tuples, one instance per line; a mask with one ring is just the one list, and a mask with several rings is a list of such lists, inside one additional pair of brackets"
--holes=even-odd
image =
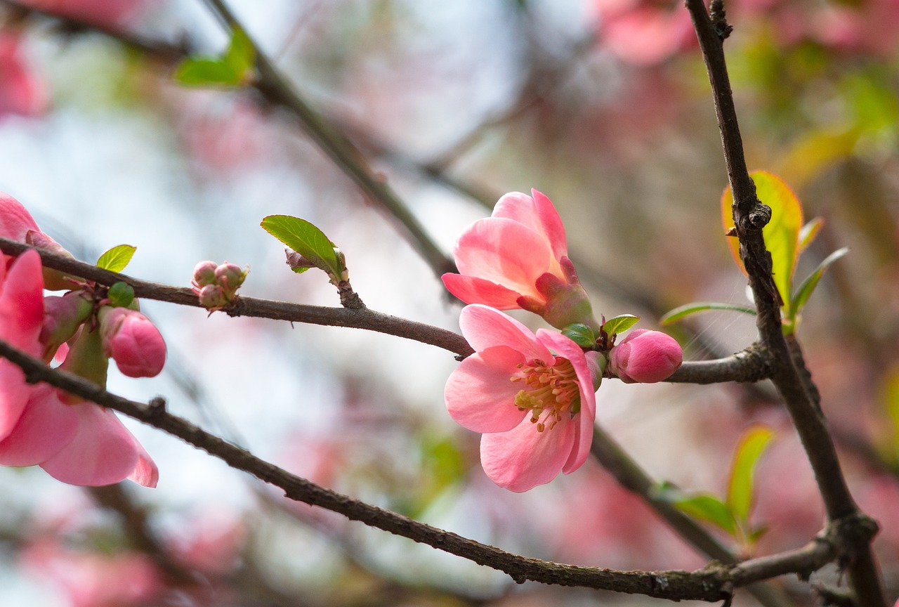
[(0, 118), (37, 116), (47, 110), (47, 91), (22, 58), (22, 37), (0, 31)]

